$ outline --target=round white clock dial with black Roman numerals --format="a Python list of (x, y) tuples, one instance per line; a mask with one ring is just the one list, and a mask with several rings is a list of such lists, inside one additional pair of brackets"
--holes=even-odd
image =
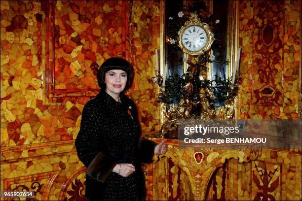
[(186, 49), (198, 52), (206, 45), (207, 34), (202, 27), (192, 25), (184, 30), (181, 40)]

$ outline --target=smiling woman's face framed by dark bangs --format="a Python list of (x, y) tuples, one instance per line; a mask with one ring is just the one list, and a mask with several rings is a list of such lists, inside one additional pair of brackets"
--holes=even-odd
[(106, 92), (109, 95), (121, 93), (126, 86), (127, 73), (123, 70), (108, 70), (105, 74)]

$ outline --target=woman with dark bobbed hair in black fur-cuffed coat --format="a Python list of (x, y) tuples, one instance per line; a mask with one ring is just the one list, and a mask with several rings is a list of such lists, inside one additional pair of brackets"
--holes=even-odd
[[(122, 58), (110, 58), (97, 73), (101, 92), (82, 111), (76, 137), (79, 159), (87, 167), (88, 200), (142, 200), (144, 179), (140, 162), (164, 154), (167, 145), (140, 137), (137, 110), (122, 92), (130, 88), (133, 68)], [(155, 146), (156, 145), (156, 146)]]

